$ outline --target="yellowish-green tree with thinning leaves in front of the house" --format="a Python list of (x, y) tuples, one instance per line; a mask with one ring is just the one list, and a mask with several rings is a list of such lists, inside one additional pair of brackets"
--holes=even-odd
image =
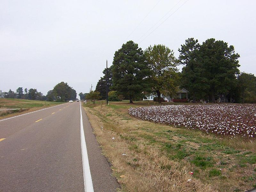
[(161, 103), (161, 93), (173, 95), (179, 86), (177, 61), (173, 51), (164, 45), (150, 45), (144, 52), (149, 68), (152, 92)]

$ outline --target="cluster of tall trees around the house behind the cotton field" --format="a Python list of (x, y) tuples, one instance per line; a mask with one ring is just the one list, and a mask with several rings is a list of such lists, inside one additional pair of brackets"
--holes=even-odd
[[(128, 41), (115, 52), (108, 76), (105, 68), (94, 92), (106, 99), (108, 78), (110, 100), (125, 98), (132, 102), (153, 94), (160, 102), (161, 95), (175, 97), (185, 88), (191, 101), (256, 102), (256, 77), (239, 71), (240, 56), (234, 46), (214, 38), (202, 44), (189, 38), (178, 51), (179, 58), (175, 58), (165, 45), (142, 51), (138, 44)], [(183, 66), (182, 72), (178, 65)]]

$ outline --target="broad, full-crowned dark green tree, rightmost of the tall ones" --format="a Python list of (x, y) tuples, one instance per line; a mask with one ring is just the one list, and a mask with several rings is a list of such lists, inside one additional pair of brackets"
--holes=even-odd
[(236, 84), (239, 57), (234, 46), (228, 47), (224, 41), (215, 41), (211, 38), (201, 45), (200, 62), (204, 68), (203, 76), (207, 79), (208, 94), (212, 102), (215, 102), (218, 93), (227, 95)]

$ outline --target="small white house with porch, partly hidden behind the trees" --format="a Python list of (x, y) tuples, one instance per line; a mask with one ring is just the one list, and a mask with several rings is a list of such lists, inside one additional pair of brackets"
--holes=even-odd
[[(163, 94), (161, 94), (161, 97), (164, 98), (164, 101), (167, 101), (167, 102), (188, 102), (188, 91), (186, 89), (182, 88), (176, 93), (177, 94), (174, 98), (170, 96), (166, 97)], [(154, 97), (157, 97), (157, 95), (151, 94), (147, 96), (147, 99), (143, 99), (143, 100), (153, 101)]]

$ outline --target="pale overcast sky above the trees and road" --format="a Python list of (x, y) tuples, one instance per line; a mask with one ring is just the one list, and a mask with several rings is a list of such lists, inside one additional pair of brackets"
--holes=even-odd
[[(122, 44), (174, 51), (194, 37), (223, 40), (240, 54), (241, 72), (256, 74), (253, 0), (1, 0), (0, 90), (44, 95), (64, 81), (89, 92)], [(181, 66), (179, 66), (181, 69)]]

